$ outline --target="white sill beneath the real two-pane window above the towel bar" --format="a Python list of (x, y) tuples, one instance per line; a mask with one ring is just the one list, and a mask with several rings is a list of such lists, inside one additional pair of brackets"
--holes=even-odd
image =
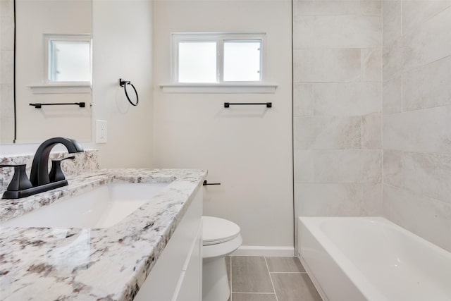
[(164, 93), (276, 93), (270, 84), (161, 84)]

